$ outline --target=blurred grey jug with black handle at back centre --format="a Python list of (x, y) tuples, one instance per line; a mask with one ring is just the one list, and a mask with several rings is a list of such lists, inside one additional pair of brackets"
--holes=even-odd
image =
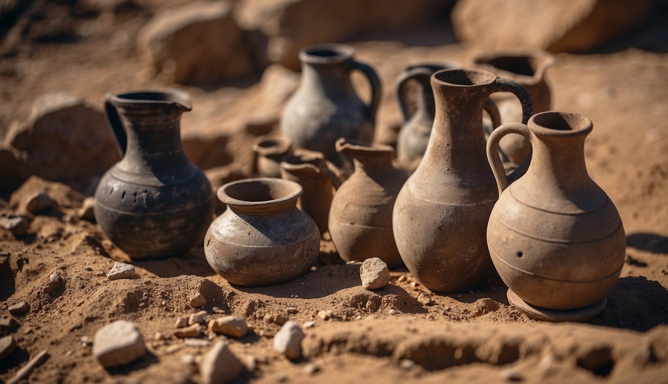
[[(353, 59), (352, 47), (321, 44), (299, 53), (301, 83), (287, 103), (281, 117), (283, 135), (297, 148), (322, 152), (337, 167), (344, 159), (334, 148), (339, 137), (371, 141), (381, 85), (375, 71)], [(361, 71), (371, 83), (371, 102), (357, 97), (350, 80), (353, 69)]]

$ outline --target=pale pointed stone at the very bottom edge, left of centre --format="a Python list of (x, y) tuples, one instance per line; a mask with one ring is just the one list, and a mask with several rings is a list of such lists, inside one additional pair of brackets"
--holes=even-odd
[(202, 383), (228, 383), (246, 370), (225, 341), (218, 341), (199, 363)]

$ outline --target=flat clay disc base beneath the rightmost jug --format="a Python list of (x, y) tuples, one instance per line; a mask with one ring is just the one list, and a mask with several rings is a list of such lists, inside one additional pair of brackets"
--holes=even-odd
[(601, 313), (605, 306), (608, 303), (608, 298), (603, 297), (603, 299), (593, 303), (592, 305), (587, 305), (587, 307), (582, 307), (578, 309), (570, 309), (566, 311), (560, 311), (558, 309), (546, 309), (541, 307), (536, 307), (531, 305), (526, 301), (520, 299), (516, 293), (508, 289), (508, 301), (510, 305), (519, 309), (532, 319), (542, 320), (542, 321), (576, 321), (576, 322), (585, 322), (591, 320), (593, 317)]

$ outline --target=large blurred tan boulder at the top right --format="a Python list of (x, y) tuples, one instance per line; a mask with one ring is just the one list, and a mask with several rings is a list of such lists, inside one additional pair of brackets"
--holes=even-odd
[[(452, 25), (462, 41), (484, 47), (588, 51), (643, 21), (651, 1), (460, 0)], [(522, 20), (522, 27), (517, 21)]]

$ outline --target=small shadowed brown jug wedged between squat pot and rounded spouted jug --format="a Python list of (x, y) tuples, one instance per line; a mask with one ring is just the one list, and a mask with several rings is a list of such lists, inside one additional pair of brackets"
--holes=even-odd
[(299, 149), (293, 156), (286, 157), (281, 163), (281, 177), (296, 181), (304, 193), (297, 201), (297, 207), (311, 216), (321, 235), (329, 231), (329, 207), (334, 197), (334, 189), (341, 185), (335, 169), (325, 156), (316, 151)]

